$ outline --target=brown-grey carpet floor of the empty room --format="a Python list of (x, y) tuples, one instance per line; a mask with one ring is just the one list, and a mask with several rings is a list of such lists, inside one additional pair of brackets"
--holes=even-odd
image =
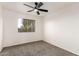
[(6, 47), (0, 56), (76, 56), (44, 41)]

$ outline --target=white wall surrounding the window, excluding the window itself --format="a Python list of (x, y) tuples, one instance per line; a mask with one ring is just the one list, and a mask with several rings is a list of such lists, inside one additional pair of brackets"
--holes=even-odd
[[(33, 16), (29, 14), (22, 14), (9, 9), (3, 10), (4, 19), (4, 40), (3, 47), (28, 43), (32, 41), (42, 40), (42, 17)], [(19, 33), (17, 28), (17, 21), (19, 18), (36, 20), (35, 32)]]

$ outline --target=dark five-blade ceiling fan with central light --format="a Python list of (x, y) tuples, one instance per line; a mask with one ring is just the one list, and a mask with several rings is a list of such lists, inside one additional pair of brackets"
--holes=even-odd
[(32, 11), (35, 11), (37, 13), (37, 15), (40, 15), (39, 11), (42, 11), (42, 12), (48, 12), (48, 10), (46, 9), (41, 9), (40, 7), (43, 6), (44, 4), (42, 2), (35, 2), (35, 7), (32, 7), (30, 5), (27, 5), (27, 4), (24, 4), (25, 6), (28, 6), (30, 8), (33, 8), (32, 10), (29, 10), (27, 12), (32, 12)]

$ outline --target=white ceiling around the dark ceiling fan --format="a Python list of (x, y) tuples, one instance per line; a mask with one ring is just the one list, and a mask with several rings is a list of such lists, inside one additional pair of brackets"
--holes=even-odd
[[(36, 12), (27, 12), (28, 10), (31, 10), (31, 8), (23, 5), (24, 3), (31, 5), (31, 6), (35, 6), (34, 2), (4, 2), (4, 3), (0, 3), (2, 4), (5, 8), (8, 9), (12, 9), (15, 11), (19, 11), (22, 13), (28, 13), (28, 14), (32, 14), (32, 15), (37, 15)], [(62, 8), (62, 7), (66, 7), (68, 6), (69, 2), (43, 2), (44, 5), (41, 7), (42, 9), (47, 9), (48, 13), (54, 13), (55, 11), (57, 11), (58, 9)], [(48, 13), (45, 12), (40, 12), (40, 16), (45, 16)]]

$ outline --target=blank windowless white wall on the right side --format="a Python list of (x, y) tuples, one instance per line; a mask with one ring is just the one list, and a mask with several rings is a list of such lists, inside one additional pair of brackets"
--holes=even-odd
[(44, 19), (45, 41), (79, 55), (79, 4)]

